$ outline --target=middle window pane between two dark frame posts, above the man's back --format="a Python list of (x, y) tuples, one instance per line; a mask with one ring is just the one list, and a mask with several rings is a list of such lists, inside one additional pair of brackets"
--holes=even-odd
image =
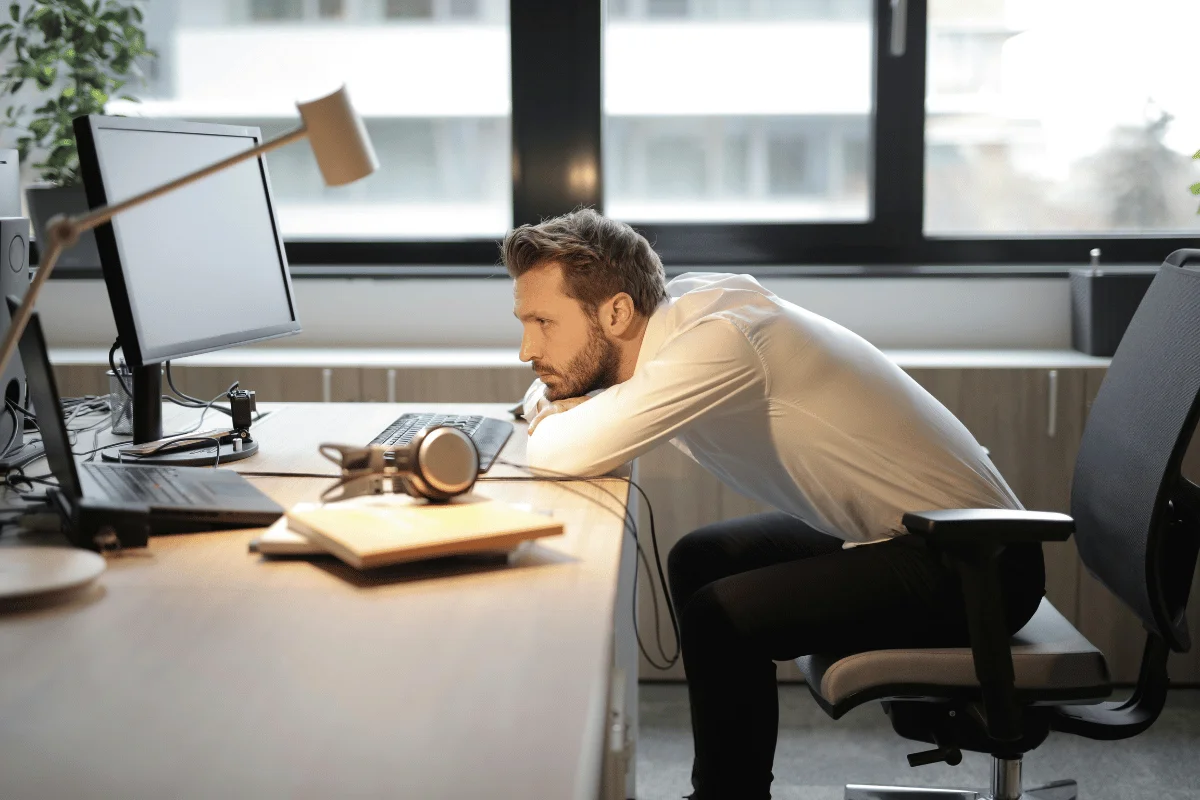
[[(637, 223), (870, 218), (869, 0), (624, 0), (605, 31), (605, 204)], [(847, 170), (857, 170), (850, 173)]]

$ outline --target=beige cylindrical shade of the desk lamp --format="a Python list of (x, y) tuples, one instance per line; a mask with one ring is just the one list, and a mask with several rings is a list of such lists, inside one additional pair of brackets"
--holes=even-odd
[(350, 106), (346, 86), (325, 97), (296, 103), (296, 108), (328, 186), (350, 184), (379, 168), (366, 126)]

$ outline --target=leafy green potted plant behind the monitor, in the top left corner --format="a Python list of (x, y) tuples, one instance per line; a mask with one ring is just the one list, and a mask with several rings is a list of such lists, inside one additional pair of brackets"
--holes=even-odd
[[(20, 134), (20, 161), (34, 162), (43, 181), (25, 192), (34, 230), (42, 237), (56, 213), (88, 210), (79, 179), (79, 155), (71, 122), (84, 114), (102, 114), (110, 97), (131, 78), (140, 79), (139, 59), (152, 59), (146, 48), (140, 2), (121, 0), (32, 0), (12, 2), (0, 23), (0, 95), (10, 101), (0, 126)], [(28, 110), (17, 103), (26, 85), (41, 104)], [(35, 101), (36, 102), (36, 101)], [(64, 253), (61, 266), (100, 266), (96, 240), (86, 234)]]

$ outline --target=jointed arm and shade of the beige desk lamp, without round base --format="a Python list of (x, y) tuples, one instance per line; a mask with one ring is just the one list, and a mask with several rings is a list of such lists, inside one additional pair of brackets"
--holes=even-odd
[(82, 234), (104, 224), (122, 211), (139, 206), (148, 200), (174, 192), (202, 178), (218, 173), (227, 167), (233, 167), (248, 158), (262, 156), (305, 137), (308, 138), (308, 144), (312, 145), (312, 152), (317, 157), (317, 166), (320, 168), (320, 176), (324, 179), (326, 186), (350, 184), (360, 178), (366, 178), (379, 167), (374, 150), (371, 146), (371, 139), (367, 138), (366, 127), (362, 125), (362, 120), (354, 110), (354, 107), (350, 106), (346, 86), (312, 102), (296, 103), (296, 108), (300, 109), (302, 125), (290, 133), (284, 133), (275, 139), (264, 142), (257, 148), (251, 148), (224, 161), (218, 161), (182, 178), (176, 178), (127, 200), (94, 209), (82, 216), (59, 215), (52, 218), (46, 225), (47, 242), (44, 254), (38, 261), (37, 272), (29, 284), (29, 290), (25, 293), (20, 307), (8, 325), (8, 333), (5, 336), (4, 348), (0, 350), (0, 374), (4, 373), (5, 367), (8, 366), (8, 360), (17, 349), (17, 342), (20, 339), (20, 333), (29, 323), (29, 315), (34, 311), (37, 294), (42, 290), (42, 284), (46, 283), (46, 279), (50, 277), (59, 255), (62, 251), (73, 247), (79, 241)]

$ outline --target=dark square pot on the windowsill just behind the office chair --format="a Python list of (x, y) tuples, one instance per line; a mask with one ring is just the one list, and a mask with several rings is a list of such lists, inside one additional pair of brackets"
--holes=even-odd
[(1080, 353), (1110, 356), (1129, 327), (1158, 267), (1070, 270), (1070, 344)]

